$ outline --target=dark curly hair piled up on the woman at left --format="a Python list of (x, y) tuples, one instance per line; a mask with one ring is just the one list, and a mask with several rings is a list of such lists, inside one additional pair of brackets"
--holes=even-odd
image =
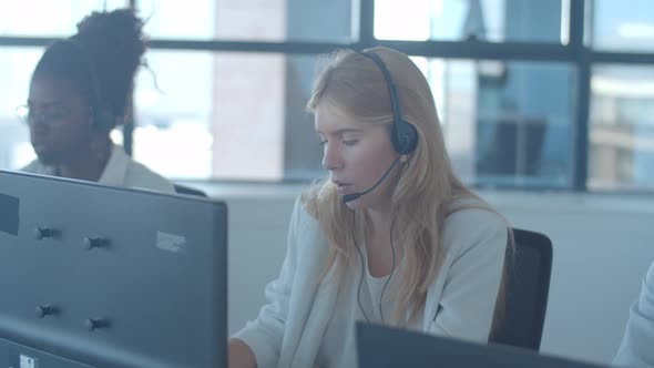
[(52, 43), (32, 78), (48, 75), (70, 81), (89, 96), (91, 108), (111, 115), (110, 131), (127, 111), (134, 76), (146, 43), (143, 21), (132, 9), (92, 12), (78, 23), (78, 33)]

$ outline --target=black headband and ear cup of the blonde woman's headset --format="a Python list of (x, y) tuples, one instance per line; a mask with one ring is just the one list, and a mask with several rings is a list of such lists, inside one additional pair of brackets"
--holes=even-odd
[(402, 111), (400, 101), (397, 96), (397, 90), (390, 72), (381, 58), (371, 51), (361, 51), (359, 54), (372, 60), (381, 71), (386, 85), (388, 86), (388, 94), (390, 95), (390, 109), (392, 110), (392, 129), (390, 133), (390, 142), (395, 151), (399, 154), (408, 154), (416, 150), (418, 145), (418, 132), (416, 126), (402, 119)]

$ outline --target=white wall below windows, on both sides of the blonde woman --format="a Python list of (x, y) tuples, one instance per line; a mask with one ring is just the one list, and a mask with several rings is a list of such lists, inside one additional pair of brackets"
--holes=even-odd
[[(229, 331), (254, 318), (284, 258), (299, 186), (205, 186), (229, 209)], [(515, 227), (539, 231), (554, 259), (542, 351), (611, 360), (650, 262), (654, 196), (481, 193)]]

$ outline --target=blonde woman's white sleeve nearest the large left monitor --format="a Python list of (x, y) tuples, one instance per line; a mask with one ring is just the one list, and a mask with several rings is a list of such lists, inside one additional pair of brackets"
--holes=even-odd
[(259, 310), (258, 317), (247, 323), (242, 330), (233, 336), (249, 346), (258, 368), (276, 367), (279, 359), (290, 289), (297, 269), (297, 227), (302, 211), (298, 198), (293, 209), (286, 257), (282, 264), (282, 270), (279, 276), (266, 286), (266, 303)]

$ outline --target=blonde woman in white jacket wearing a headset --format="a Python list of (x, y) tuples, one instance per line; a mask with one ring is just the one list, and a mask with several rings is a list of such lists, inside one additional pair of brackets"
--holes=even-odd
[(509, 228), (453, 174), (420, 70), (390, 49), (336, 52), (308, 109), (330, 180), (296, 202), (229, 367), (354, 367), (356, 321), (487, 341)]

